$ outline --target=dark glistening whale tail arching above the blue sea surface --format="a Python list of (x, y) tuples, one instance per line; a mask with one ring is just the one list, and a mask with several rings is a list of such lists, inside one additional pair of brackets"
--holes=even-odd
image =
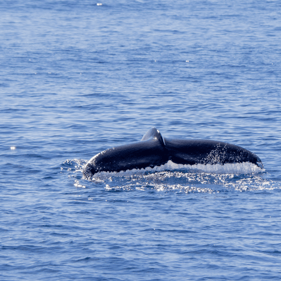
[(149, 129), (141, 142), (107, 149), (91, 158), (83, 168), (90, 178), (98, 172), (120, 172), (166, 164), (253, 163), (263, 168), (252, 152), (224, 142), (204, 139), (164, 138), (156, 128)]

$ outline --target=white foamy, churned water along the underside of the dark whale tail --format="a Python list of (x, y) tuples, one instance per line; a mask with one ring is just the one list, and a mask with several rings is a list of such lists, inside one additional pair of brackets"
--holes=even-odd
[(160, 167), (121, 172), (100, 172), (82, 176), (84, 160), (67, 160), (62, 171), (70, 172), (76, 188), (103, 188), (107, 191), (159, 191), (180, 193), (221, 193), (280, 188), (266, 179), (264, 170), (251, 163), (225, 165), (180, 165), (169, 161)]

